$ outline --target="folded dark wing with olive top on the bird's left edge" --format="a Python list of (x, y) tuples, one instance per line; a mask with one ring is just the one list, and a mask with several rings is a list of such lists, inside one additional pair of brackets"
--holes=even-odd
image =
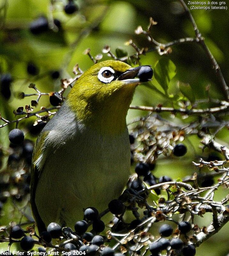
[(45, 131), (42, 131), (42, 133), (38, 137), (36, 141), (36, 145), (34, 147), (33, 162), (32, 162), (32, 168), (31, 168), (30, 203), (31, 203), (34, 219), (36, 221), (38, 231), (40, 234), (42, 231), (46, 231), (46, 227), (37, 210), (37, 207), (35, 204), (35, 194), (36, 194), (36, 186), (39, 180), (39, 176), (41, 175), (42, 167), (44, 166), (46, 157), (48, 155), (49, 147), (48, 146), (44, 147), (45, 145), (44, 142), (47, 140), (48, 134), (49, 134), (49, 131), (45, 130)]

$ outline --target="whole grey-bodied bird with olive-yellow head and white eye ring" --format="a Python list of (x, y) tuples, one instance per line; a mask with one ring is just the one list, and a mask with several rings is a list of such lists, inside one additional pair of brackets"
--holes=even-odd
[(130, 171), (126, 114), (141, 83), (135, 77), (144, 67), (150, 69), (142, 79), (147, 81), (149, 66), (132, 68), (114, 60), (93, 65), (42, 130), (31, 175), (31, 205), (40, 233), (50, 222), (74, 227), (83, 209), (104, 211), (121, 194)]

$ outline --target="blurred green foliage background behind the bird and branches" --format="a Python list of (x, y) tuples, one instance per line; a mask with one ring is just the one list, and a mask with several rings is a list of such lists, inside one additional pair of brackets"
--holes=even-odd
[[(133, 39), (139, 48), (153, 49), (153, 45), (150, 45), (146, 36), (134, 34), (134, 29), (139, 25), (143, 29), (147, 29), (149, 17), (153, 17), (157, 21), (157, 25), (153, 26), (151, 33), (158, 42), (166, 43), (183, 37), (195, 36), (192, 25), (178, 1), (77, 0), (75, 4), (78, 11), (73, 14), (64, 12), (63, 8), (66, 4), (67, 1), (0, 0), (0, 73), (11, 73), (13, 78), (10, 99), (5, 100), (0, 96), (2, 117), (13, 120), (14, 109), (30, 104), (32, 99), (36, 99), (36, 97), (30, 97), (19, 100), (14, 96), (21, 91), (34, 93), (33, 89), (28, 88), (29, 83), (35, 83), (42, 92), (57, 91), (60, 88), (61, 78), (73, 77), (72, 70), (76, 63), (82, 70), (90, 67), (93, 64), (92, 61), (83, 54), (87, 48), (91, 49), (93, 56), (100, 54), (104, 45), (110, 45), (111, 51), (114, 53), (116, 48), (122, 47), (131, 55), (135, 51), (131, 46), (125, 45), (125, 42)], [(228, 11), (194, 10), (192, 14), (206, 44), (219, 63), (226, 82), (228, 82)], [(34, 34), (31, 32), (31, 24), (41, 16), (49, 20), (50, 28), (43, 33)], [(53, 19), (58, 28), (53, 26)], [(152, 50), (146, 55), (141, 55), (141, 64), (154, 67), (156, 61), (163, 57)], [(108, 58), (106, 54), (103, 54), (103, 60)], [(200, 45), (186, 43), (172, 46), (169, 58), (177, 70), (176, 76), (170, 83), (169, 93), (176, 94), (178, 92), (177, 81), (181, 81), (190, 84), (196, 99), (206, 98), (205, 87), (208, 85), (210, 85), (209, 94), (212, 98), (224, 99), (209, 59)], [(37, 68), (35, 75), (28, 74), (29, 63), (33, 63)], [(51, 77), (53, 71), (59, 72), (58, 78)], [(160, 86), (154, 82), (155, 80), (153, 80), (153, 84), (156, 88), (162, 91)], [(150, 83), (137, 88), (133, 104), (156, 106), (159, 103), (171, 106), (170, 100), (156, 93), (153, 87), (150, 87)], [(42, 96), (34, 111), (39, 110), (41, 106), (51, 106), (48, 96)], [(129, 122), (142, 114), (140, 111), (130, 110), (127, 121)], [(164, 114), (164, 117), (168, 117), (168, 115)], [(23, 129), (26, 138), (35, 141), (35, 136), (29, 132), (33, 121), (34, 119), (31, 118), (20, 122), (19, 128)], [(5, 148), (9, 145), (8, 132), (12, 128), (15, 128), (15, 124), (0, 128), (0, 143)], [(218, 138), (227, 145), (228, 131), (222, 130), (218, 134)], [(195, 171), (191, 161), (197, 161), (202, 155), (202, 151), (198, 147), (199, 140), (196, 136), (191, 136), (184, 143), (189, 150), (182, 161), (175, 158), (159, 158), (154, 173), (156, 176), (166, 173), (172, 178), (182, 178)], [(209, 151), (204, 152), (205, 156), (208, 154)], [(219, 200), (222, 198), (222, 194), (226, 195), (226, 189), (222, 189)], [(7, 221), (12, 221), (12, 219), (8, 216), (0, 218), (0, 225), (6, 225)], [(211, 216), (205, 216), (202, 226), (207, 225), (210, 221)], [(217, 235), (197, 248), (196, 255), (226, 255), (228, 253), (228, 231), (229, 225), (227, 224)]]

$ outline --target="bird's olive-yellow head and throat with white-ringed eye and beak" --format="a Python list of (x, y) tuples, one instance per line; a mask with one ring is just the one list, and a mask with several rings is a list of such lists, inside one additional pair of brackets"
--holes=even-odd
[[(142, 79), (138, 76), (142, 67), (148, 73)], [(132, 68), (130, 65), (108, 60), (90, 67), (77, 80), (67, 98), (67, 104), (77, 119), (94, 127), (112, 124), (126, 126), (126, 114), (134, 90), (141, 82), (152, 78), (149, 66)]]

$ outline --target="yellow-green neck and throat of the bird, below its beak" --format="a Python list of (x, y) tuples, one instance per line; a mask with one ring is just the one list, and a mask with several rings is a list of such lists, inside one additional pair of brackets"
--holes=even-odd
[[(133, 92), (134, 93), (134, 92)], [(105, 101), (87, 101), (83, 97), (68, 97), (77, 120), (85, 126), (106, 135), (118, 135), (126, 131), (126, 115), (133, 93), (112, 95)]]

